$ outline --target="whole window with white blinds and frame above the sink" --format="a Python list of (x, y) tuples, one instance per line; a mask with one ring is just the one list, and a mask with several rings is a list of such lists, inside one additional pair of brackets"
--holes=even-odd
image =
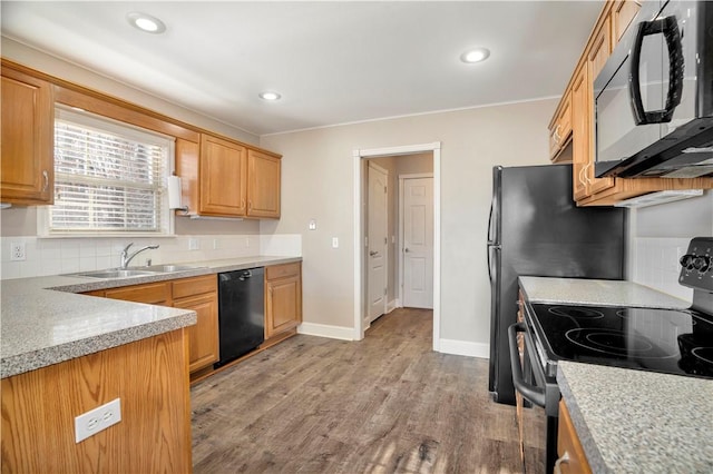
[(45, 235), (170, 235), (172, 138), (57, 107)]

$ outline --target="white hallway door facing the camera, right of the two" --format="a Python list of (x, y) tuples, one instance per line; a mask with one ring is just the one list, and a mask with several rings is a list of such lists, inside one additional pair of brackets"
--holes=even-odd
[(433, 308), (433, 178), (403, 180), (403, 306)]

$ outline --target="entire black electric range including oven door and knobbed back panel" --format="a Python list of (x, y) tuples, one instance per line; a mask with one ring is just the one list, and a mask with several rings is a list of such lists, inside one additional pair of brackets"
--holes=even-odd
[(539, 417), (545, 431), (536, 436), (546, 438), (545, 460), (529, 471), (553, 472), (555, 465), (557, 361), (713, 378), (713, 237), (692, 239), (681, 264), (678, 282), (694, 288), (686, 309), (525, 305), (524, 322), (509, 328), (514, 379), (534, 404), (529, 419)]

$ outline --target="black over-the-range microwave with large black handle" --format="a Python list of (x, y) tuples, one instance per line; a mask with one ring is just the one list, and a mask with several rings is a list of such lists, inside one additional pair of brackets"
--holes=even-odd
[(593, 90), (595, 176), (713, 176), (713, 2), (645, 1)]

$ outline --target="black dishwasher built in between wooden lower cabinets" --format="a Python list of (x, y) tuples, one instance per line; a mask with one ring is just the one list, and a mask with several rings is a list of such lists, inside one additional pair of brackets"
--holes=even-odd
[(251, 352), (265, 340), (265, 269), (218, 274), (221, 359), (214, 367)]

